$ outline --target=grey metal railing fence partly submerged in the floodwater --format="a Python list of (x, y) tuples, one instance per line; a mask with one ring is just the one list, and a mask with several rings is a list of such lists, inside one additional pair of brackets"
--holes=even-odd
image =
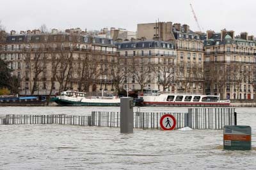
[[(234, 108), (189, 108), (188, 113), (134, 112), (134, 128), (161, 129), (160, 119), (171, 114), (176, 119), (175, 129), (223, 129), (234, 125)], [(120, 127), (120, 113), (92, 111), (91, 115), (6, 115), (0, 117), (0, 125), (61, 124), (97, 127)]]

